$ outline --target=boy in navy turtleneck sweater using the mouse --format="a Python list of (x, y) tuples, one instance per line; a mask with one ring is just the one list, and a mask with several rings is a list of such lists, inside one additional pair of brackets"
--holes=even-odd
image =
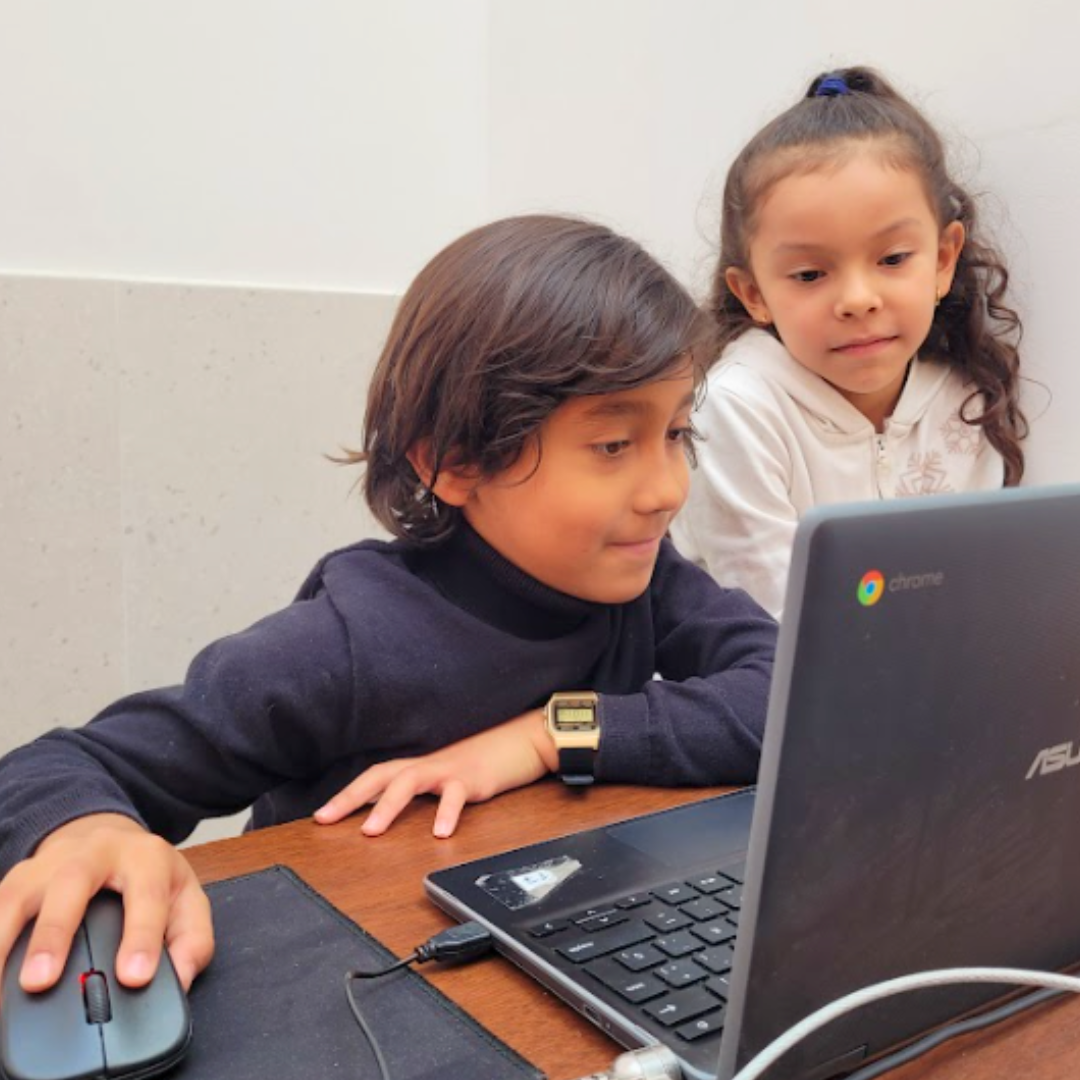
[[(465, 802), (554, 771), (752, 780), (775, 624), (665, 539), (711, 340), (677, 282), (598, 226), (511, 218), (437, 255), (348, 457), (400, 539), (326, 556), (183, 686), (0, 762), (0, 966), (37, 915), (21, 978), (52, 985), (107, 887), (124, 895), (119, 977), (146, 983), (164, 939), (190, 986), (213, 932), (172, 843), (246, 806), (260, 826), (374, 801), (376, 835), (435, 793), (448, 836)], [(545, 723), (566, 691), (584, 691), (595, 750)]]

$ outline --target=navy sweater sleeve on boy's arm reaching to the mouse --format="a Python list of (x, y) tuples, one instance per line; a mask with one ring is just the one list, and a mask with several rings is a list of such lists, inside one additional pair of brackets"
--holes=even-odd
[(0, 760), (0, 876), (51, 832), (121, 813), (171, 841), (310, 777), (350, 729), (349, 639), (325, 595), (204, 649), (181, 686), (136, 693)]

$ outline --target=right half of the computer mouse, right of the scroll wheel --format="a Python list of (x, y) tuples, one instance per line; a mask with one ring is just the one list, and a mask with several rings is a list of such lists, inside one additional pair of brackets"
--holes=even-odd
[(102, 1025), (106, 1075), (120, 1080), (178, 1061), (191, 1039), (187, 995), (168, 954), (153, 978), (139, 989), (109, 983), (112, 1022)]

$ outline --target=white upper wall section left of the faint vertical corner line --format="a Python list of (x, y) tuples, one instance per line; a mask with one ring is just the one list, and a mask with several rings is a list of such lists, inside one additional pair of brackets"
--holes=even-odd
[(0, 269), (400, 292), (487, 208), (481, 0), (0, 0)]

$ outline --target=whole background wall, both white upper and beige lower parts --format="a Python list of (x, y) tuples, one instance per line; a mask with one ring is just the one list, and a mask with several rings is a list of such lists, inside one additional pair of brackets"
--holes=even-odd
[(1078, 40), (1066, 0), (0, 0), (0, 751), (372, 528), (319, 455), (435, 249), (559, 208), (700, 289), (728, 161), (826, 67), (993, 193), (1053, 395), (1029, 478), (1080, 480)]

